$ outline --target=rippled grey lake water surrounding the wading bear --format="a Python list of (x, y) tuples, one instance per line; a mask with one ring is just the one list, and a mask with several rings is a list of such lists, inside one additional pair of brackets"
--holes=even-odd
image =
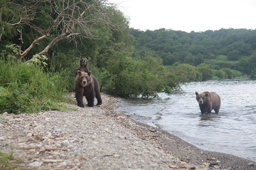
[[(192, 82), (181, 88), (153, 99), (123, 99), (119, 110), (199, 148), (256, 161), (256, 80)], [(220, 113), (202, 115), (196, 91), (219, 94)]]

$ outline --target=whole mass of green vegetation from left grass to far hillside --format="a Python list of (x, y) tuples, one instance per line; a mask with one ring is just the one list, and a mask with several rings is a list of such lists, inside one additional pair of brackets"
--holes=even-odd
[(105, 0), (0, 4), (0, 113), (59, 109), (74, 91), (80, 57), (89, 57), (102, 92), (120, 97), (256, 77), (256, 30), (140, 31)]

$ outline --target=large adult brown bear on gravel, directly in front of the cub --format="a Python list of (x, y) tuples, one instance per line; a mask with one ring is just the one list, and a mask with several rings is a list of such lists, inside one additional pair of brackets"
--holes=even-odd
[(75, 79), (75, 97), (78, 102), (79, 107), (84, 107), (83, 105), (83, 96), (85, 96), (88, 104), (88, 107), (93, 107), (94, 97), (97, 98), (97, 104), (102, 104), (102, 99), (99, 90), (99, 82), (92, 75), (92, 72), (82, 72), (80, 70), (77, 71), (77, 76)]

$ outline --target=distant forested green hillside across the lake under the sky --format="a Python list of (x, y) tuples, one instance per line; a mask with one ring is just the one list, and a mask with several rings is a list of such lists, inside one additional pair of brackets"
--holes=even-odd
[(164, 65), (206, 63), (216, 70), (229, 68), (255, 74), (256, 30), (230, 28), (187, 33), (163, 28), (132, 29), (131, 34), (135, 37), (135, 56), (160, 56)]

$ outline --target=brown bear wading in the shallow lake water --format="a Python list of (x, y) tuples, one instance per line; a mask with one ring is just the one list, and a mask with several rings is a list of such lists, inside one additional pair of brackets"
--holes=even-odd
[(214, 109), (215, 113), (218, 114), (221, 107), (221, 98), (214, 92), (203, 92), (198, 94), (196, 92), (196, 100), (198, 101), (201, 113), (210, 114)]

